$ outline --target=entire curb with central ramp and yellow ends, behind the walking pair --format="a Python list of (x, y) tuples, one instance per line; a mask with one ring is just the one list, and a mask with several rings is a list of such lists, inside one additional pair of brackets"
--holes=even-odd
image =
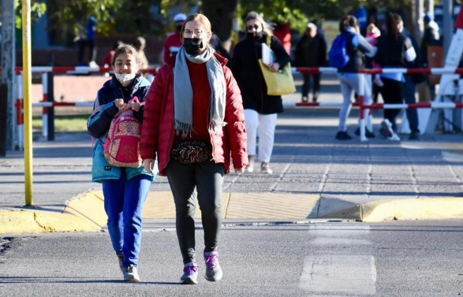
[[(320, 195), (288, 193), (223, 193), (224, 219), (345, 219), (378, 222), (391, 219), (463, 218), (463, 197), (408, 198), (366, 203)], [(143, 218), (173, 219), (172, 193), (150, 192)], [(199, 207), (195, 218), (201, 218)], [(0, 234), (100, 231), (106, 227), (102, 192), (70, 200), (62, 212), (40, 207), (0, 210)]]

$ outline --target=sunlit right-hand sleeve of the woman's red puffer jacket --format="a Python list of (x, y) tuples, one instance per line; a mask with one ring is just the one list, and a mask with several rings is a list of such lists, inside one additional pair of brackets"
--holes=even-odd
[(233, 158), (234, 168), (242, 168), (248, 164), (247, 136), (244, 128), (244, 109), (241, 91), (231, 70), (224, 66), (223, 72), (227, 86), (227, 99), (225, 107), (225, 126), (227, 130), (227, 143)]

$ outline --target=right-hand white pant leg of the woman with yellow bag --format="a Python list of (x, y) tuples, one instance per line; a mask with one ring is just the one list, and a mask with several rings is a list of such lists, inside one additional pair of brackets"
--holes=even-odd
[(259, 114), (259, 160), (268, 163), (272, 157), (277, 114)]

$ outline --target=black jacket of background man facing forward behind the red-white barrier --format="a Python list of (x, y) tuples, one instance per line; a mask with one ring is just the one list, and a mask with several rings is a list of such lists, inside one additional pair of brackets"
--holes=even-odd
[(295, 62), (297, 67), (320, 67), (326, 65), (326, 41), (322, 35), (313, 38), (304, 34), (297, 43)]

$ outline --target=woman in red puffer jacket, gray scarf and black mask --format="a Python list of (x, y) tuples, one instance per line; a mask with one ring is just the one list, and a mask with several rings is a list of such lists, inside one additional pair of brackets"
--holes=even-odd
[(193, 191), (197, 188), (204, 228), (205, 277), (219, 281), (218, 240), (222, 222), (223, 176), (244, 172), (248, 163), (241, 92), (215, 52), (209, 20), (187, 17), (183, 46), (163, 65), (150, 87), (143, 116), (140, 154), (148, 172), (157, 156), (174, 196), (176, 230), (183, 257), (182, 284), (197, 284)]

